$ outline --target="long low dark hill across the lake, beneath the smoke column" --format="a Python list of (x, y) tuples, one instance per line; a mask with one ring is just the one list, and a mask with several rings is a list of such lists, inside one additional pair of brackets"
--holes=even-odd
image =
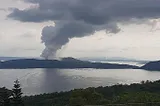
[(127, 64), (109, 64), (81, 61), (74, 58), (61, 60), (17, 59), (0, 62), (1, 69), (25, 68), (99, 68), (99, 69), (135, 69), (138, 66)]

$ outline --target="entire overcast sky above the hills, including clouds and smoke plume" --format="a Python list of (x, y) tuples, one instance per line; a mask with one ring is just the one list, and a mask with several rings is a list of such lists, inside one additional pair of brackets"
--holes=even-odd
[(158, 60), (158, 3), (159, 0), (1, 0), (0, 56)]

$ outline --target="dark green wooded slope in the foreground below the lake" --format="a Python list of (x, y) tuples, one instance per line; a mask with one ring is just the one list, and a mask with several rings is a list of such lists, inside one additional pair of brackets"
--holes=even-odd
[[(0, 91), (2, 91), (2, 89), (4, 90), (4, 88), (1, 88)], [(0, 99), (4, 98), (2, 95), (6, 95), (6, 93), (0, 93)], [(8, 97), (8, 95), (6, 95), (6, 97)], [(25, 96), (22, 97), (22, 101), (20, 98), (18, 99), (20, 100), (18, 103), (21, 104), (23, 101), (22, 105), (24, 106), (84, 106), (113, 104), (160, 106), (160, 80), (154, 82), (142, 81), (139, 84), (131, 85), (117, 84), (98, 88), (90, 87), (87, 89), (75, 89), (68, 92)]]

